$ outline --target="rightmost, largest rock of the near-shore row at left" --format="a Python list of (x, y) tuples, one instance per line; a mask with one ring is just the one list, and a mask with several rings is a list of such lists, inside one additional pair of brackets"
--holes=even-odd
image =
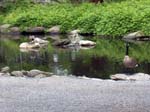
[(36, 77), (38, 75), (45, 75), (45, 76), (51, 76), (52, 74), (49, 73), (49, 72), (44, 72), (44, 71), (40, 71), (40, 70), (36, 70), (36, 69), (33, 69), (33, 70), (30, 70), (27, 74), (28, 77)]

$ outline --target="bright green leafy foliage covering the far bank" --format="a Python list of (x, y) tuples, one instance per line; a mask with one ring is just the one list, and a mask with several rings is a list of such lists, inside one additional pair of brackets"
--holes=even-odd
[(32, 4), (32, 7), (29, 1), (21, 3), (24, 3), (23, 7), (17, 5), (6, 14), (4, 23), (22, 28), (60, 25), (62, 32), (78, 28), (83, 33), (97, 35), (124, 35), (137, 30), (150, 35), (149, 0), (114, 0), (103, 5)]

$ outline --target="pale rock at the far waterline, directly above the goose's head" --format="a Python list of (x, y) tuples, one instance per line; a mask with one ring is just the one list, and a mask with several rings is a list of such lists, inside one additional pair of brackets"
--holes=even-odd
[(145, 36), (142, 31), (133, 32), (123, 37), (124, 40), (150, 40), (149, 36)]

